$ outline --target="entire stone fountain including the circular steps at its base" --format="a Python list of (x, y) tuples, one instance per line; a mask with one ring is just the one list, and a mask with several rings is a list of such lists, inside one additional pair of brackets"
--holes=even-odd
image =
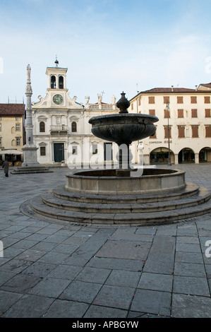
[(159, 119), (130, 114), (130, 102), (121, 93), (119, 114), (92, 117), (92, 134), (119, 146), (119, 167), (82, 170), (66, 174), (66, 185), (57, 186), (21, 206), (33, 217), (54, 218), (94, 225), (161, 225), (210, 213), (210, 193), (186, 182), (182, 170), (133, 168), (129, 146), (155, 134)]

